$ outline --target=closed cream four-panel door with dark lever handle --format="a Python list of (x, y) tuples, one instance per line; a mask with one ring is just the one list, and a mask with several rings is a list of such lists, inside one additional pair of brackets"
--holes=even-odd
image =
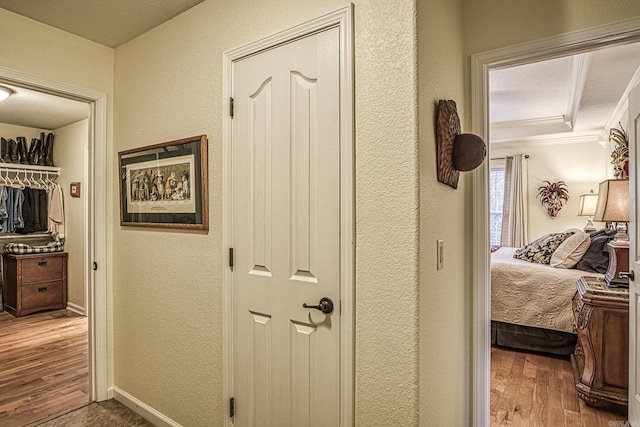
[(337, 426), (339, 28), (237, 60), (232, 78), (234, 425)]

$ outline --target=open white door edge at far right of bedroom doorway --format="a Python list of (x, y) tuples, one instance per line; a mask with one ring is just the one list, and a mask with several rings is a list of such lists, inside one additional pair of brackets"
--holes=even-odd
[(629, 94), (629, 146), (631, 161), (631, 269), (635, 280), (629, 280), (629, 421), (640, 425), (640, 85)]

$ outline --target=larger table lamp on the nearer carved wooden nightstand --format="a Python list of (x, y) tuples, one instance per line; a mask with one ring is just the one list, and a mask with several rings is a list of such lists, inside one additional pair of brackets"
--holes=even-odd
[(595, 221), (615, 223), (618, 233), (607, 244), (609, 269), (604, 281), (609, 287), (628, 287), (629, 279), (621, 278), (620, 272), (629, 271), (629, 180), (608, 179), (600, 183)]

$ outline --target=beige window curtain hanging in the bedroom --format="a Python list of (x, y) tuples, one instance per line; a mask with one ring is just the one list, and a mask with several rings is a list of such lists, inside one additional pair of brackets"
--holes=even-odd
[(501, 246), (521, 248), (528, 242), (526, 168), (524, 154), (505, 157)]

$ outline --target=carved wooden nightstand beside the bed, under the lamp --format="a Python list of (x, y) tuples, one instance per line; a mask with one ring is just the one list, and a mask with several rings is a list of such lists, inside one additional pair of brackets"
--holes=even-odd
[(573, 297), (578, 343), (571, 355), (576, 390), (590, 406), (627, 405), (629, 290), (581, 277)]

